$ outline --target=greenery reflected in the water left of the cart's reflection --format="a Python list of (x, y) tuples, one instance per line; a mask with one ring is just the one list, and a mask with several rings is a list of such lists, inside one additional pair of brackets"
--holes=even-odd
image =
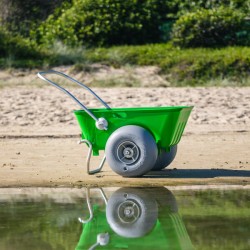
[(82, 204), (0, 204), (0, 249), (74, 249)]

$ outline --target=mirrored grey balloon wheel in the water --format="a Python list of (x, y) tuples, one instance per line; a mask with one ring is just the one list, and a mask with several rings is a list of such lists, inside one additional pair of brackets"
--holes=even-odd
[(141, 188), (120, 188), (106, 207), (107, 221), (122, 237), (138, 238), (150, 232), (157, 221), (158, 207), (152, 196)]

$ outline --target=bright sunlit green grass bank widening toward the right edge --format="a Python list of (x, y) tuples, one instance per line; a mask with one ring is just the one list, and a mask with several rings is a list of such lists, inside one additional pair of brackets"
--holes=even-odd
[(156, 65), (175, 86), (250, 85), (250, 47), (178, 49), (168, 44), (122, 46), (87, 51), (91, 62), (121, 67)]

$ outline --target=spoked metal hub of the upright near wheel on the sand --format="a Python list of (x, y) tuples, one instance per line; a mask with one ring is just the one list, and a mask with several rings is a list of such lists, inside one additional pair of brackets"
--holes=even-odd
[(140, 155), (138, 146), (131, 141), (122, 142), (117, 148), (118, 159), (125, 164), (135, 163)]

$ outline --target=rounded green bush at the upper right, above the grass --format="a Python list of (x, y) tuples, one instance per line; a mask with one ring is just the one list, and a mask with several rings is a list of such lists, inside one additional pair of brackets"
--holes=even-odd
[(229, 8), (200, 9), (176, 21), (172, 40), (181, 47), (250, 45), (250, 29), (244, 18)]

